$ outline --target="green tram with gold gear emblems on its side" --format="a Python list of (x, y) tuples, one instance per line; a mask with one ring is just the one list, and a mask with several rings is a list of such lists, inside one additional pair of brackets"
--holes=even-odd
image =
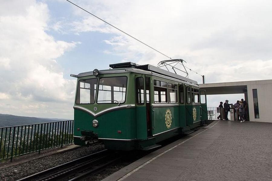
[(112, 150), (148, 150), (208, 119), (206, 93), (196, 81), (126, 62), (77, 78), (74, 144)]

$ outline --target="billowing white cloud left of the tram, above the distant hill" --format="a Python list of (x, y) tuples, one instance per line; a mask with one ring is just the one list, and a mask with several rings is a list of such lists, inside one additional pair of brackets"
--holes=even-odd
[(75, 80), (63, 78), (55, 59), (80, 42), (55, 40), (46, 32), (45, 3), (5, 1), (0, 12), (1, 113), (72, 118)]

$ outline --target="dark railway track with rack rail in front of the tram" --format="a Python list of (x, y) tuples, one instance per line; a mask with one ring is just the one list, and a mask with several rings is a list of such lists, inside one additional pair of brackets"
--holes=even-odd
[(35, 173), (17, 181), (83, 180), (92, 174), (102, 171), (106, 166), (119, 158), (121, 158), (121, 153), (103, 150)]

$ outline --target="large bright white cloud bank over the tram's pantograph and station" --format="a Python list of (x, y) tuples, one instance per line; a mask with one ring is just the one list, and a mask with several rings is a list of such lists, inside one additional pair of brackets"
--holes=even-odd
[[(207, 82), (271, 78), (266, 73), (272, 59), (271, 1), (74, 2), (166, 55), (186, 60), (194, 71), (206, 72)], [(120, 60), (157, 65), (167, 59), (78, 8), (74, 13), (83, 18), (74, 22), (77, 33), (116, 34), (105, 43)], [(194, 73), (189, 77), (202, 80)]]

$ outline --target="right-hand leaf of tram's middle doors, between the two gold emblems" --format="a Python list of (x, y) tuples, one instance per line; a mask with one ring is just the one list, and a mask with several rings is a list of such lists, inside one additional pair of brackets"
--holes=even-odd
[(185, 101), (185, 109), (186, 109), (186, 125), (192, 125), (193, 124), (193, 106), (192, 106), (192, 94), (191, 94), (191, 87), (185, 86), (185, 95), (186, 95), (186, 101)]

